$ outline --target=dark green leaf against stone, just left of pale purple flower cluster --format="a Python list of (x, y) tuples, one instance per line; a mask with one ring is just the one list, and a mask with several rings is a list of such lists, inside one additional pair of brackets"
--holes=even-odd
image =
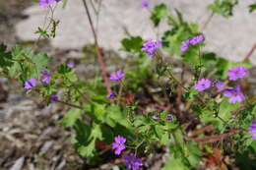
[(124, 38), (121, 41), (123, 48), (128, 52), (140, 52), (143, 39), (141, 36), (131, 36), (130, 38)]

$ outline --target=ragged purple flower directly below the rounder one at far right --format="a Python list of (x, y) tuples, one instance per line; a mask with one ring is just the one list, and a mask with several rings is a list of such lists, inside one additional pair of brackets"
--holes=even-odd
[(228, 97), (229, 103), (235, 103), (236, 101), (241, 102), (244, 100), (243, 92), (241, 91), (240, 85), (236, 87), (229, 87), (224, 89), (224, 96)]

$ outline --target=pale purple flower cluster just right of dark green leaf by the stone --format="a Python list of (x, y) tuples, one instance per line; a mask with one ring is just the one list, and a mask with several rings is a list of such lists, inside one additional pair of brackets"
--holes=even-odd
[(161, 42), (149, 39), (143, 43), (142, 51), (149, 53), (148, 57), (152, 58), (156, 54), (156, 50), (160, 48)]

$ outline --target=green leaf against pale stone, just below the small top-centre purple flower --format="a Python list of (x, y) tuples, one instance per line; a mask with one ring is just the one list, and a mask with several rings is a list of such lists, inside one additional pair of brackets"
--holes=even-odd
[(158, 27), (160, 24), (160, 20), (167, 17), (167, 15), (168, 15), (168, 9), (166, 5), (164, 4), (157, 5), (154, 8), (153, 13), (151, 15), (151, 20), (154, 23), (155, 27)]

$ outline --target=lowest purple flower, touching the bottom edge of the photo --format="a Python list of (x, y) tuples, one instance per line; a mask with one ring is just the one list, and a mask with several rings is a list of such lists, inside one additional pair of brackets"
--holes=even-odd
[(139, 170), (140, 166), (143, 165), (142, 160), (140, 158), (137, 158), (136, 155), (133, 153), (125, 154), (123, 156), (123, 160), (124, 160), (124, 165), (128, 169)]

